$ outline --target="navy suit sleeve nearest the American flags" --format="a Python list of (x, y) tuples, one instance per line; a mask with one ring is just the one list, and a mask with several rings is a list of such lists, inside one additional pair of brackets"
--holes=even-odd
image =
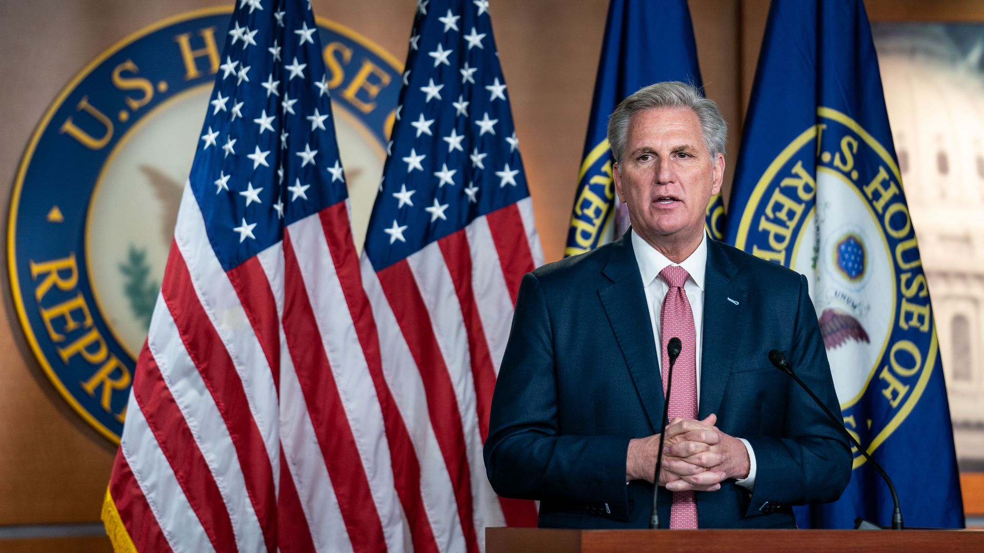
[(485, 469), (499, 495), (607, 504), (628, 520), (628, 438), (561, 435), (553, 328), (536, 276), (523, 276), (496, 382)]

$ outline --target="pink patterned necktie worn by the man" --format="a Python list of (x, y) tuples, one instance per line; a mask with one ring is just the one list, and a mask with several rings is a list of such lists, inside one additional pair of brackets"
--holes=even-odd
[[(663, 298), (659, 312), (659, 342), (661, 345), (660, 368), (663, 373), (663, 395), (666, 394), (670, 359), (666, 344), (670, 338), (680, 338), (683, 345), (673, 363), (673, 389), (670, 391), (669, 420), (675, 417), (697, 418), (697, 333), (694, 330), (694, 312), (684, 291), (684, 282), (690, 276), (682, 267), (668, 265), (659, 272), (669, 290)], [(697, 502), (693, 491), (673, 492), (670, 505), (670, 528), (697, 528)]]

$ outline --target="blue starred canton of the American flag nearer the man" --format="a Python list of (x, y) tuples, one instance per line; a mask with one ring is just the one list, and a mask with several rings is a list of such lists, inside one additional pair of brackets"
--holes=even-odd
[(420, 0), (365, 252), (381, 271), (529, 196), (486, 0)]

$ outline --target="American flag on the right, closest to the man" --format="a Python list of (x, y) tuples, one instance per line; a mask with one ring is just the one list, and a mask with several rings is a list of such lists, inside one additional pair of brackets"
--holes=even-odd
[(485, 526), (536, 521), (492, 491), (482, 444), (520, 280), (543, 259), (488, 2), (418, 1), (402, 79), (363, 283), (415, 549), (476, 551)]

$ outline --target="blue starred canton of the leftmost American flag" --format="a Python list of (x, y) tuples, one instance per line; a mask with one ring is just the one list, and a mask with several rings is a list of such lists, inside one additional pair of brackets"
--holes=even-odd
[(239, 0), (191, 169), (228, 271), (347, 198), (321, 38), (303, 0)]

